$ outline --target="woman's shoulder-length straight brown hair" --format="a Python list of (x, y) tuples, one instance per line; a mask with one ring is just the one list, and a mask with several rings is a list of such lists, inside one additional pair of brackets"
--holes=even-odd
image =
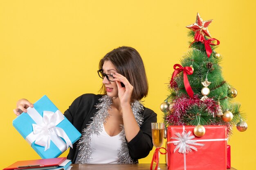
[[(125, 76), (133, 86), (131, 102), (141, 100), (148, 95), (148, 80), (144, 63), (137, 50), (132, 47), (122, 46), (108, 52), (99, 62), (99, 70), (102, 69), (105, 61), (110, 61), (117, 69), (117, 72)], [(104, 84), (101, 86), (100, 92), (106, 94)]]

